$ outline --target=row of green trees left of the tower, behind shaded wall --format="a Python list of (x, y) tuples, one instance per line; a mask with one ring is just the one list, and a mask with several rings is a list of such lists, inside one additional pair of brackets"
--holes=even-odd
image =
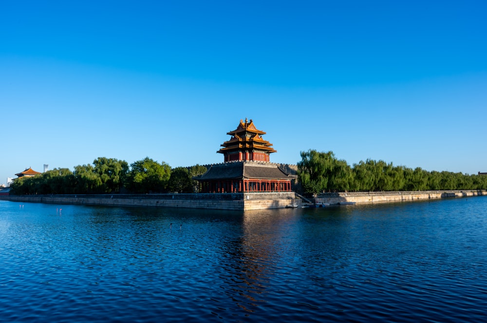
[(18, 178), (12, 194), (104, 194), (177, 191), (197, 189), (193, 176), (203, 174), (205, 166), (171, 167), (146, 157), (129, 164), (125, 160), (99, 157), (92, 164), (46, 171), (34, 177)]

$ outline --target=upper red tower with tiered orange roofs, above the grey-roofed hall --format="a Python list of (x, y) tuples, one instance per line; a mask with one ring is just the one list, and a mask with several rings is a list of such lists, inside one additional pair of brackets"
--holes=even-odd
[(250, 122), (245, 118), (245, 122), (240, 120), (237, 129), (227, 132), (232, 136), (225, 141), (217, 153), (223, 153), (224, 162), (231, 161), (263, 161), (268, 162), (269, 154), (277, 151), (272, 148), (272, 144), (262, 139), (265, 132), (258, 130), (252, 119)]

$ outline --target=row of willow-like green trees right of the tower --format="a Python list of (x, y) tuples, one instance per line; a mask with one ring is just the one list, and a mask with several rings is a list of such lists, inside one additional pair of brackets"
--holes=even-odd
[(427, 171), (367, 159), (353, 167), (333, 152), (301, 152), (298, 180), (306, 193), (486, 189), (487, 176)]

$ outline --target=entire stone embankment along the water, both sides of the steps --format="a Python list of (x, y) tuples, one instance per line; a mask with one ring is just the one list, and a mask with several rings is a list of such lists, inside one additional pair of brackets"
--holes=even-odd
[[(313, 204), (322, 205), (376, 204), (473, 196), (487, 196), (487, 190), (320, 193), (309, 200)], [(309, 205), (303, 202), (294, 192), (3, 195), (0, 196), (0, 200), (47, 204), (183, 207), (236, 211), (285, 208), (290, 205), (294, 207)]]

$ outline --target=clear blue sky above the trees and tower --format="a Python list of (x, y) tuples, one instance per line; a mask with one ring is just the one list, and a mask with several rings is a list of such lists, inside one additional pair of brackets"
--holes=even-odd
[(97, 157), (487, 171), (487, 2), (2, 1), (0, 184)]

